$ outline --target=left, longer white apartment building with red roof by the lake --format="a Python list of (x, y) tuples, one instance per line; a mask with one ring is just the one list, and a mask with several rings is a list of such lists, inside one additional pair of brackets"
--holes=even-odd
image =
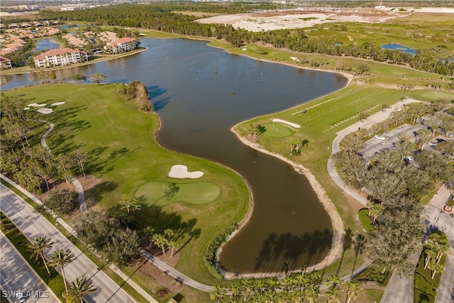
[(82, 50), (72, 50), (71, 48), (58, 48), (49, 50), (33, 58), (35, 67), (55, 67), (62, 65), (72, 65), (89, 60), (89, 55)]

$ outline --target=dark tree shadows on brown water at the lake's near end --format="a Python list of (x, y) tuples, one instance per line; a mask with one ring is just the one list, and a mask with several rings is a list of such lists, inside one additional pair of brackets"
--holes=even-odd
[(331, 247), (332, 231), (314, 231), (292, 235), (292, 233), (270, 233), (262, 242), (262, 250), (255, 259), (254, 270), (257, 272), (279, 272), (284, 261), (289, 262), (289, 270), (301, 268), (306, 259), (307, 265), (319, 263)]

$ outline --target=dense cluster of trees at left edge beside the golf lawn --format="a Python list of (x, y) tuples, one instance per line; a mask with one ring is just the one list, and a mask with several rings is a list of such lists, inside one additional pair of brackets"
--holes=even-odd
[(40, 145), (40, 114), (34, 109), (24, 110), (26, 100), (6, 97), (1, 102), (1, 172), (31, 192), (40, 192), (53, 180), (70, 180), (77, 173), (85, 175), (85, 155), (75, 149), (65, 154), (52, 155)]

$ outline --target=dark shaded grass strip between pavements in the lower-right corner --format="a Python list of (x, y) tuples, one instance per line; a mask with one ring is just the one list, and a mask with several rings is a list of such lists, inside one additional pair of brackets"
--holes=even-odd
[[(414, 302), (435, 302), (437, 295), (438, 285), (440, 285), (442, 272), (436, 272), (435, 277), (432, 279), (432, 272), (430, 269), (424, 269), (424, 259), (426, 254), (421, 253), (419, 263), (416, 265), (414, 273)], [(440, 260), (441, 266), (445, 266), (446, 256), (443, 255)]]

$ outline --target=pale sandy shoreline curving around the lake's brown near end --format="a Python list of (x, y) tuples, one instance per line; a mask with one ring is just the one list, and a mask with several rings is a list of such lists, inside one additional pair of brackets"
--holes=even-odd
[[(240, 122), (243, 123), (243, 122)], [(240, 123), (237, 123), (235, 126), (231, 127), (231, 131), (236, 134), (237, 138), (245, 145), (248, 145), (250, 148), (254, 148), (255, 150), (258, 150), (261, 153), (265, 153), (267, 155), (271, 155), (275, 158), (278, 158), (279, 160), (282, 160), (284, 162), (287, 162), (289, 165), (292, 165), (294, 170), (298, 172), (300, 175), (304, 175), (306, 179), (309, 181), (309, 184), (311, 184), (312, 189), (314, 189), (314, 192), (316, 193), (317, 197), (319, 198), (319, 201), (323, 205), (323, 208), (326, 210), (328, 213), (328, 216), (331, 219), (331, 226), (333, 228), (333, 239), (331, 241), (331, 248), (328, 250), (328, 255), (326, 255), (323, 260), (321, 260), (319, 263), (316, 263), (315, 265), (309, 266), (306, 268), (306, 272), (312, 272), (314, 270), (321, 270), (323, 268), (326, 268), (327, 266), (333, 264), (336, 262), (338, 258), (341, 257), (342, 255), (342, 247), (343, 247), (343, 236), (345, 234), (344, 228), (343, 228), (343, 221), (341, 219), (341, 216), (338, 214), (338, 211), (336, 210), (336, 206), (333, 204), (331, 199), (328, 198), (328, 195), (326, 194), (325, 189), (321, 187), (321, 184), (316, 180), (316, 177), (311, 173), (310, 170), (306, 169), (303, 165), (297, 164), (293, 162), (292, 160), (289, 160), (285, 158), (282, 155), (279, 155), (277, 153), (272, 153), (269, 150), (266, 150), (265, 148), (260, 147), (258, 143), (253, 143), (245, 138), (241, 137), (236, 131), (234, 130), (236, 126), (238, 126)], [(222, 248), (228, 241), (231, 240), (234, 236), (236, 236), (236, 233), (240, 231), (241, 228), (243, 228), (247, 223), (248, 220), (250, 219), (250, 215), (253, 212), (253, 201), (251, 200), (251, 209), (248, 211), (248, 215), (245, 216), (244, 224), (240, 226), (238, 224), (238, 230), (235, 231), (234, 233), (231, 234), (231, 236), (228, 237), (228, 240), (223, 243), (223, 245), (218, 249), (217, 255), (220, 255), (222, 252)], [(227, 270), (223, 270), (218, 265), (218, 269), (221, 272), (221, 275), (223, 275), (224, 279), (226, 280), (233, 280), (233, 279), (243, 279), (243, 278), (262, 278), (262, 277), (279, 277), (282, 275), (281, 272), (255, 272), (255, 273), (243, 273), (243, 274), (238, 274), (236, 272), (229, 272)], [(301, 272), (301, 270), (292, 270), (290, 272)]]

